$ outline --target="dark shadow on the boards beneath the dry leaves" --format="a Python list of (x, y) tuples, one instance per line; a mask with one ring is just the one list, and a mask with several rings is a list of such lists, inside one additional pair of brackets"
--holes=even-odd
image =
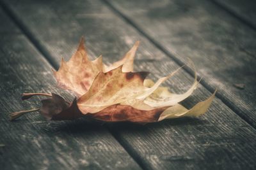
[(79, 118), (77, 120), (67, 120), (60, 122), (52, 122), (49, 125), (52, 132), (67, 132), (67, 133), (86, 133), (102, 131), (102, 128), (108, 129), (111, 133), (122, 132), (147, 132), (148, 129), (164, 129), (166, 127), (179, 127), (184, 125), (203, 125), (204, 120), (194, 117), (175, 118), (154, 122), (149, 124), (136, 124), (132, 122), (101, 122), (90, 120), (89, 118)]

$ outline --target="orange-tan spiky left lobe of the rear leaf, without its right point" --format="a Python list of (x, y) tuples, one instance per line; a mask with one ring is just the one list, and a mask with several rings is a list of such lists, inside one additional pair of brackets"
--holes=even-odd
[(53, 71), (58, 82), (58, 87), (72, 90), (77, 96), (82, 96), (87, 92), (93, 79), (102, 70), (102, 57), (94, 61), (88, 59), (84, 48), (84, 39), (81, 38), (76, 53), (72, 55), (68, 62), (61, 60), (58, 71)]

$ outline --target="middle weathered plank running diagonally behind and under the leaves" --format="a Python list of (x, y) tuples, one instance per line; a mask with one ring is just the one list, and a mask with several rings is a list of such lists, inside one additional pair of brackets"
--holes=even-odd
[[(159, 78), (177, 64), (118, 18), (100, 1), (6, 1), (12, 12), (35, 36), (39, 46), (57, 63), (69, 59), (81, 35), (90, 55), (103, 54), (107, 62), (124, 55), (141, 40), (136, 70), (150, 70)], [(200, 67), (199, 67), (200, 68)], [(201, 67), (201, 69), (204, 67)], [(180, 71), (166, 85), (177, 92), (192, 83)], [(200, 86), (184, 103), (191, 106), (210, 93)], [(200, 118), (168, 120), (159, 124), (108, 124), (115, 138), (127, 148), (143, 169), (255, 169), (255, 129), (246, 124), (220, 99)]]

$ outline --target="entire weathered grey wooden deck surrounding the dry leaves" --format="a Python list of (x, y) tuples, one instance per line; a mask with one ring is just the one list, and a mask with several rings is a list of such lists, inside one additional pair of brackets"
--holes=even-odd
[[(0, 6), (0, 169), (256, 169), (255, 1), (0, 0)], [(189, 57), (204, 79), (184, 105), (217, 88), (216, 99), (202, 117), (157, 124), (49, 122), (39, 114), (9, 122), (8, 113), (36, 106), (36, 98), (20, 101), (22, 92), (67, 95), (51, 68), (70, 58), (83, 35), (91, 59), (102, 54), (107, 63), (140, 40), (135, 69), (153, 79)], [(166, 85), (180, 92), (192, 82), (184, 67)]]

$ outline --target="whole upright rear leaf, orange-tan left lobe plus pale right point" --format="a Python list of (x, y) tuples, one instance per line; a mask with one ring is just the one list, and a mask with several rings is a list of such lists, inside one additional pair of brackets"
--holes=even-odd
[(58, 87), (72, 90), (80, 97), (88, 91), (93, 79), (100, 71), (108, 72), (121, 65), (124, 65), (124, 72), (132, 71), (134, 56), (139, 44), (140, 43), (137, 41), (131, 50), (125, 54), (123, 59), (108, 67), (102, 63), (101, 55), (93, 61), (88, 59), (84, 47), (84, 38), (82, 37), (76, 53), (72, 55), (71, 59), (67, 62), (62, 59), (58, 71), (52, 70), (58, 82)]

